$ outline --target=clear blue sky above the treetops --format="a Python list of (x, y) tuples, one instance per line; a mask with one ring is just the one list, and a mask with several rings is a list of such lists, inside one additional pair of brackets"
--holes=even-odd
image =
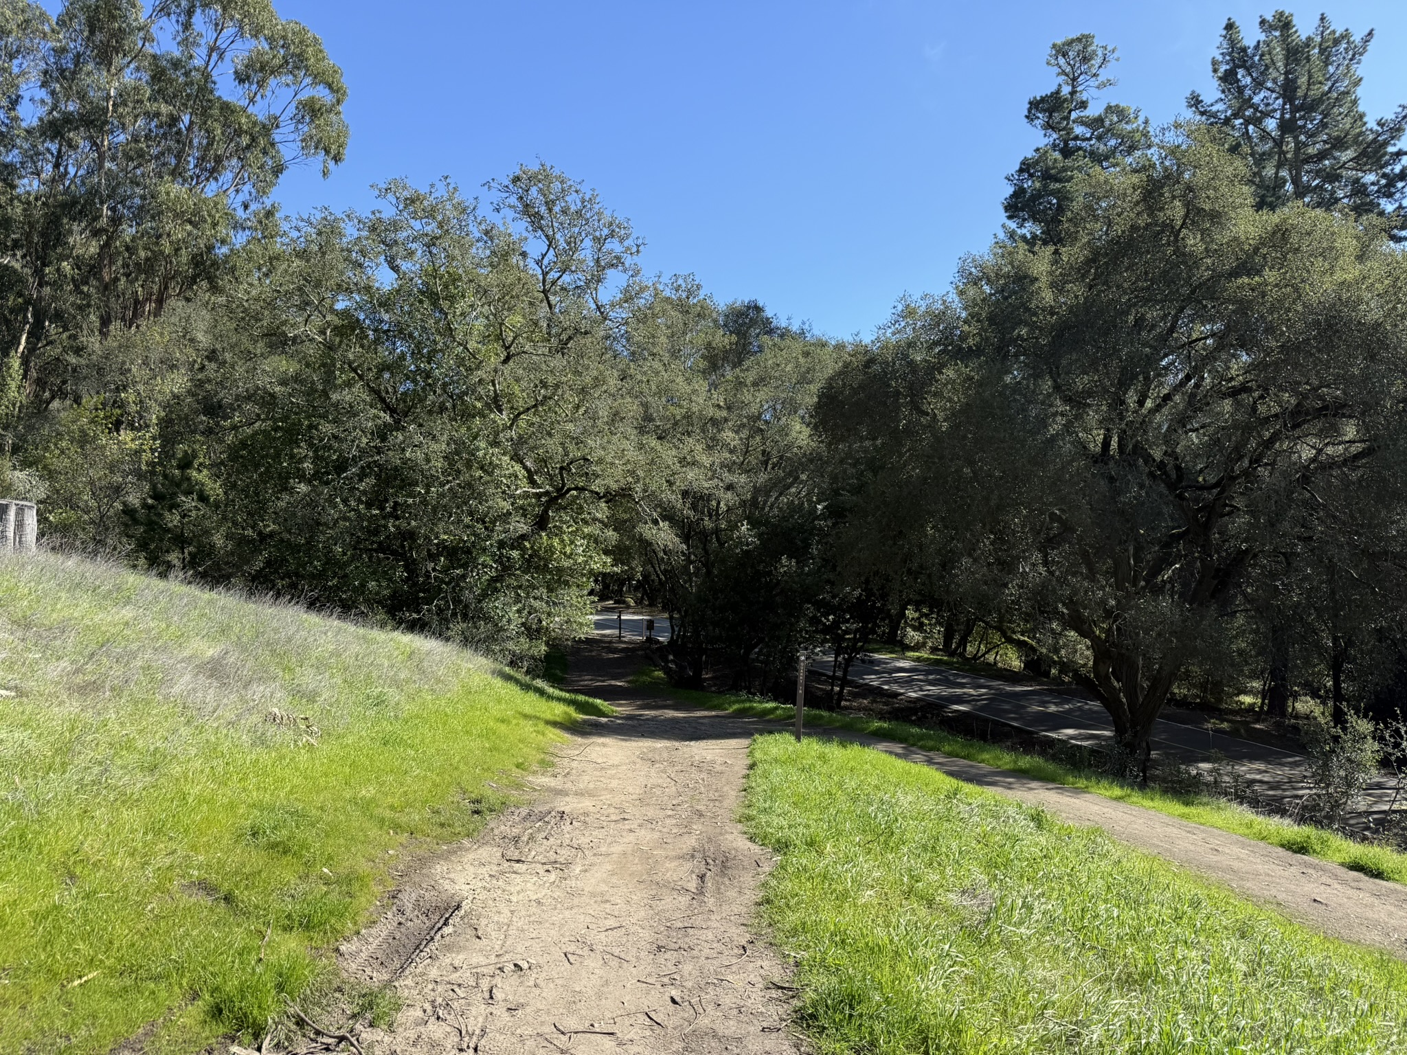
[[(370, 184), (466, 190), (542, 158), (595, 187), (692, 271), (834, 336), (903, 293), (941, 291), (1000, 228), (1003, 176), (1036, 142), (1026, 100), (1051, 41), (1119, 48), (1112, 100), (1155, 122), (1209, 91), (1225, 18), (1269, 6), (1120, 3), (559, 3), (276, 0), (346, 73), (352, 142), (331, 179), (290, 174), (290, 211), (367, 208)], [(1293, 6), (1301, 28), (1375, 28), (1368, 115), (1407, 101), (1407, 3)]]

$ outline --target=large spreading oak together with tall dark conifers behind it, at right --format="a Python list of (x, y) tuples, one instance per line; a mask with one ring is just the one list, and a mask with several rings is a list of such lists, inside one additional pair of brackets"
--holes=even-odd
[(1370, 34), (1261, 31), (1159, 134), (1055, 44), (1012, 229), (819, 401), (848, 563), (927, 643), (1083, 684), (1131, 771), (1175, 698), (1407, 702), (1404, 127), (1358, 104)]

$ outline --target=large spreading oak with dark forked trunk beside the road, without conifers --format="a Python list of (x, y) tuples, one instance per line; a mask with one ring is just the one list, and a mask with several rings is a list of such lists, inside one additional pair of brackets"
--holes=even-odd
[(857, 544), (909, 522), (891, 563), (1081, 674), (1145, 758), (1241, 591), (1393, 471), (1407, 267), (1351, 219), (1256, 210), (1197, 128), (1079, 188), (1058, 248), (999, 241), (951, 304), (902, 305), (819, 428), (833, 463), (899, 467), (843, 480)]

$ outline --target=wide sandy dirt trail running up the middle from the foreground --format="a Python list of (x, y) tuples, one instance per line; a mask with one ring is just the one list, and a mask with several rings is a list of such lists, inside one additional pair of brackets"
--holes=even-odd
[(398, 979), (397, 1028), (364, 1034), (377, 1051), (802, 1049), (787, 966), (750, 930), (771, 857), (734, 820), (757, 723), (626, 688), (637, 663), (587, 641), (571, 688), (620, 715), (587, 719), (530, 807), (343, 948), (353, 975)]

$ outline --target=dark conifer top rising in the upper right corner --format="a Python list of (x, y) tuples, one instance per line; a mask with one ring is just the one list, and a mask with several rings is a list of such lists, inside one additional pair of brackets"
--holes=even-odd
[(1227, 20), (1211, 60), (1217, 96), (1193, 91), (1188, 107), (1228, 131), (1262, 208), (1300, 201), (1386, 215), (1400, 229), (1407, 224), (1407, 104), (1372, 122), (1363, 114), (1359, 66), (1372, 31), (1354, 37), (1321, 14), (1300, 34), (1287, 11), (1261, 18), (1259, 30), (1261, 38), (1247, 44)]

